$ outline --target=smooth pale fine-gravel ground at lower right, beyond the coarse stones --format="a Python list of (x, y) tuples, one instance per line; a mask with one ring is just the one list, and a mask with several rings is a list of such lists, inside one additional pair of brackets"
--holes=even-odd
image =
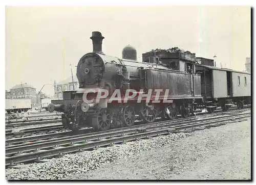
[(195, 131), (69, 179), (251, 179), (250, 122)]

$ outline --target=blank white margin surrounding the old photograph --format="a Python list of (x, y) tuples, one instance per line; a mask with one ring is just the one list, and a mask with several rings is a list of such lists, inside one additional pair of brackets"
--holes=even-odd
[[(28, 1), (28, 0), (24, 0), (24, 1), (1, 1), (0, 5), (1, 5), (1, 50), (2, 52), (0, 52), (0, 56), (1, 56), (1, 67), (0, 67), (0, 74), (1, 76), (1, 84), (4, 84), (5, 87), (5, 6), (165, 6), (165, 5), (245, 5), (245, 6), (252, 6), (254, 7), (254, 2), (255, 1), (250, 1), (250, 0), (233, 0), (233, 1), (221, 1), (221, 0), (216, 0), (216, 1), (185, 1), (185, 0), (176, 0), (176, 1), (163, 1), (163, 0), (129, 0), (129, 1), (120, 1), (120, 0), (108, 0), (108, 1), (103, 1), (103, 0), (96, 0), (96, 1), (82, 1), (82, 0), (73, 0), (73, 1), (56, 1), (56, 0), (44, 0), (44, 1)], [(255, 12), (254, 12), (255, 14)], [(254, 20), (255, 21), (255, 20)], [(253, 21), (253, 23), (255, 23)], [(254, 41), (254, 40), (253, 40)], [(254, 43), (254, 42), (253, 42)], [(254, 50), (253, 50), (254, 51)], [(252, 55), (254, 54), (254, 52), (252, 51)], [(254, 62), (254, 61), (252, 61)], [(254, 66), (255, 67), (255, 66)], [(254, 69), (254, 68), (253, 68)], [(252, 73), (255, 70), (252, 70)], [(252, 86), (253, 87), (253, 86)], [(2, 116), (2, 120), (5, 120), (5, 115), (4, 115), (4, 105), (5, 105), (5, 100), (4, 100), (4, 94), (5, 94), (5, 88), (1, 91), (1, 97), (3, 97), (1, 99), (1, 113), (3, 114)], [(254, 94), (253, 94), (254, 95)], [(253, 112), (254, 113), (254, 112)], [(2, 123), (4, 124), (4, 122)], [(255, 128), (255, 126), (254, 126)], [(1, 143), (2, 143), (2, 151), (5, 147), (5, 131), (4, 129), (2, 130), (2, 138), (1, 138)], [(254, 130), (253, 130), (254, 131)], [(7, 181), (5, 180), (5, 154), (4, 152), (1, 153), (1, 160), (2, 160), (2, 169), (1, 170), (1, 182), (2, 184), (6, 184)], [(255, 168), (254, 168), (255, 169)], [(255, 176), (254, 176), (255, 177)], [(27, 182), (18, 182), (18, 183), (22, 183), (25, 184)], [(30, 182), (30, 183), (34, 183), (34, 182)], [(36, 182), (37, 183), (37, 182)], [(54, 184), (54, 182), (48, 182), (50, 184)], [(67, 182), (67, 183), (72, 183), (71, 182)], [(90, 183), (90, 182), (78, 182), (78, 183)], [(98, 183), (98, 182), (97, 182)], [(106, 182), (103, 182), (106, 183)], [(138, 182), (130, 182), (130, 183), (138, 183)], [(158, 182), (153, 182), (153, 183), (158, 183)], [(180, 182), (172, 182), (172, 183), (180, 183)], [(182, 182), (182, 183), (189, 183), (189, 182)], [(208, 182), (209, 183), (209, 182)], [(210, 183), (214, 183), (213, 181)], [(218, 183), (222, 183), (222, 182), (218, 182)], [(232, 182), (230, 182), (232, 183)]]

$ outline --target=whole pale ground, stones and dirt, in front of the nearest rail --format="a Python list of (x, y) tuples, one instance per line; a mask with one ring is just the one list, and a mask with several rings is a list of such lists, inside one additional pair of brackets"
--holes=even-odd
[(251, 117), (225, 122), (9, 166), (6, 179), (251, 179)]

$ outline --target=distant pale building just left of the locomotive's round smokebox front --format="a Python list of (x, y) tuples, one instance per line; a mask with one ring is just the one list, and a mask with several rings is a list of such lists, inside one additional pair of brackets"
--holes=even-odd
[[(75, 90), (78, 89), (79, 84), (76, 75), (73, 76), (74, 79), (74, 88)], [(54, 98), (62, 99), (63, 93), (62, 91), (73, 91), (73, 82), (72, 76), (66, 78), (65, 81), (60, 81), (58, 83), (54, 82)]]

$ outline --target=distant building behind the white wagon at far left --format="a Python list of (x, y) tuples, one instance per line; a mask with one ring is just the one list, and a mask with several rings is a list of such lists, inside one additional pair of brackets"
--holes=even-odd
[[(9, 92), (6, 92), (6, 96)], [(31, 85), (18, 84), (10, 89), (11, 99), (31, 99), (32, 107), (36, 107), (36, 90)]]

